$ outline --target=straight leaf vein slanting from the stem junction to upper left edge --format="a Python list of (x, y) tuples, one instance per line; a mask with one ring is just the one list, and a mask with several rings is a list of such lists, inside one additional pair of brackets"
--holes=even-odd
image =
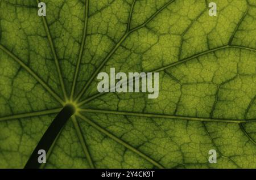
[(26, 70), (33, 78), (35, 78), (38, 81), (38, 83), (40, 83), (57, 101), (60, 102), (60, 104), (64, 104), (63, 100), (61, 100), (61, 98), (55, 92), (53, 92), (52, 89), (48, 87), (48, 85), (41, 78), (39, 78), (39, 76), (36, 75), (30, 67), (23, 63), (18, 57), (16, 57), (16, 55), (14, 55), (8, 49), (6, 49), (5, 46), (0, 44), (0, 49), (2, 49), (3, 52), (10, 55), (11, 58), (13, 58), (17, 63), (19, 63), (19, 65), (22, 66), (24, 70)]

